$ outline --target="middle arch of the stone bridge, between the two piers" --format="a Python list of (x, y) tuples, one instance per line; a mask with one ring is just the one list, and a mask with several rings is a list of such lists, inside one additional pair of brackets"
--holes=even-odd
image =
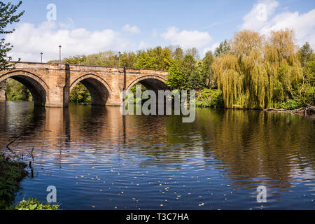
[(80, 76), (71, 83), (69, 93), (78, 83), (82, 83), (89, 90), (92, 105), (106, 105), (111, 94), (111, 87), (103, 78), (92, 73)]

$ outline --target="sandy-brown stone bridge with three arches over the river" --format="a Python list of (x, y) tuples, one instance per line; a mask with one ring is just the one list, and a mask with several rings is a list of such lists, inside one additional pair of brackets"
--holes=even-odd
[(5, 100), (5, 80), (13, 78), (31, 92), (35, 106), (68, 106), (69, 93), (78, 83), (90, 91), (92, 105), (120, 106), (120, 93), (136, 83), (155, 92), (167, 90), (166, 76), (166, 71), (151, 69), (18, 62), (15, 69), (0, 71), (0, 101)]

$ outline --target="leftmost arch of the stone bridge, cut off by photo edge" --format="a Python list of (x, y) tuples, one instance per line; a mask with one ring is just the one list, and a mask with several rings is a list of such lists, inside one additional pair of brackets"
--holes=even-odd
[(9, 71), (0, 76), (0, 82), (7, 78), (13, 78), (27, 87), (33, 97), (34, 106), (45, 106), (45, 104), (49, 104), (49, 87), (45, 81), (36, 76), (36, 74), (25, 70)]

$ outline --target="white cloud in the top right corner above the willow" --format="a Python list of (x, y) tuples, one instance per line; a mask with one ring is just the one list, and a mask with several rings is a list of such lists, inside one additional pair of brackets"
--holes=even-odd
[(315, 48), (315, 9), (307, 13), (287, 11), (275, 14), (274, 12), (279, 6), (277, 1), (262, 1), (261, 4), (265, 4), (265, 8), (267, 8), (266, 20), (259, 20), (263, 16), (257, 17), (259, 4), (255, 5), (251, 12), (244, 16), (242, 29), (253, 29), (261, 34), (269, 34), (271, 30), (294, 29), (298, 45), (303, 45), (309, 41), (311, 46)]

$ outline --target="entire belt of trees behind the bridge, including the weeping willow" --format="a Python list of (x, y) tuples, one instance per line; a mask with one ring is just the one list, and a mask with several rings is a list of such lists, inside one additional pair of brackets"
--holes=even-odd
[[(64, 63), (134, 67), (168, 71), (172, 90), (216, 89), (226, 107), (292, 109), (314, 104), (314, 51), (309, 43), (298, 49), (292, 30), (268, 36), (243, 30), (200, 59), (196, 48), (160, 46), (137, 52), (106, 51), (63, 59)], [(71, 100), (90, 97), (83, 85), (73, 88)], [(199, 91), (201, 92), (201, 91)], [(80, 98), (82, 94), (84, 97)], [(88, 101), (89, 99), (87, 99)]]

